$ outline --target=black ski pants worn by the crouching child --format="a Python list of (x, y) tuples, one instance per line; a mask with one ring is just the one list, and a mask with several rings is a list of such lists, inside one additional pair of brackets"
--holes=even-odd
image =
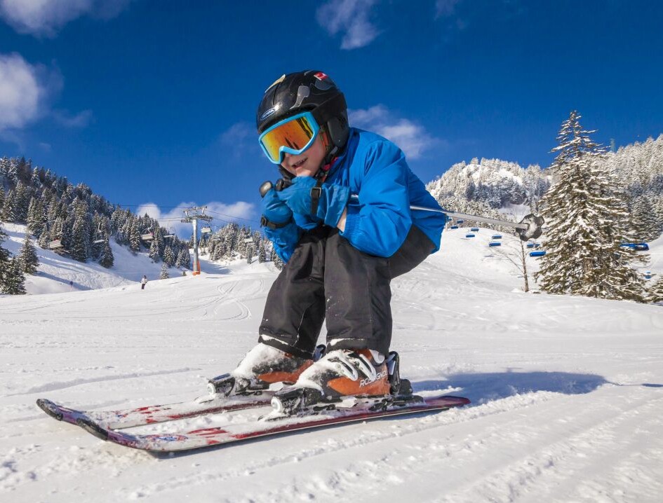
[(333, 349), (389, 352), (392, 278), (407, 273), (434, 244), (412, 226), (398, 251), (388, 257), (360, 252), (338, 229), (307, 231), (267, 296), (260, 342), (310, 356), (323, 321)]

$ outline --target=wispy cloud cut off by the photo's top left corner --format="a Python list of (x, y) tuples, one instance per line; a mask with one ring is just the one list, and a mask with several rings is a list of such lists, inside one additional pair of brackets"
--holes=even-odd
[(112, 18), (131, 0), (0, 0), (0, 16), (19, 33), (55, 36), (81, 15)]

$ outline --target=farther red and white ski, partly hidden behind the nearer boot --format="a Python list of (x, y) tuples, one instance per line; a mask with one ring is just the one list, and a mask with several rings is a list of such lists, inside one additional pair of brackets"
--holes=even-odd
[(40, 398), (36, 401), (42, 411), (58, 421), (77, 425), (81, 419), (90, 420), (107, 429), (123, 429), (158, 422), (192, 418), (196, 415), (240, 411), (269, 405), (271, 393), (248, 396), (212, 397), (204, 396), (191, 401), (176, 404), (150, 405), (127, 408), (119, 411), (77, 411), (74, 408), (55, 404), (51, 400)]

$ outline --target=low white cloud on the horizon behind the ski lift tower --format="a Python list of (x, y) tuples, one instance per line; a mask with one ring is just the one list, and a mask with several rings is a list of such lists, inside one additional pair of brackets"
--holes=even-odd
[[(172, 229), (182, 239), (188, 239), (192, 231), (191, 223), (182, 223), (180, 219), (184, 217), (184, 209), (197, 206), (199, 205), (196, 205), (195, 202), (180, 202), (178, 207), (162, 211), (158, 205), (145, 202), (136, 208), (135, 214), (142, 216), (147, 213), (153, 219), (158, 220), (162, 227)], [(225, 202), (210, 201), (203, 206), (207, 207), (205, 214), (214, 218), (210, 222), (212, 227), (225, 226), (229, 221), (234, 221), (239, 225), (252, 226), (253, 228), (260, 225), (255, 219), (255, 205), (250, 202), (237, 201), (227, 204)]]

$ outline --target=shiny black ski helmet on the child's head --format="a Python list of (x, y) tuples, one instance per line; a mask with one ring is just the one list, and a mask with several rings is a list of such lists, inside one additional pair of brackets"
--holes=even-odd
[(349, 127), (345, 97), (322, 71), (297, 71), (270, 85), (255, 116), (257, 132), (303, 111), (312, 111), (318, 125), (326, 129), (331, 145), (324, 163), (329, 163), (347, 143)]

